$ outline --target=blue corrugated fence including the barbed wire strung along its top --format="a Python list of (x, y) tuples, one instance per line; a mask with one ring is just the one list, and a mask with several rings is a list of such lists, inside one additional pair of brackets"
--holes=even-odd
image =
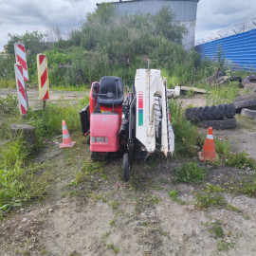
[(195, 46), (203, 59), (225, 59), (231, 68), (256, 70), (256, 18), (235, 27), (229, 27)]

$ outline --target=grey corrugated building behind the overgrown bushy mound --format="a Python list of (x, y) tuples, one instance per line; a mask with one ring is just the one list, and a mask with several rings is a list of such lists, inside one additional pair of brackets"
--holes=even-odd
[(117, 15), (134, 15), (136, 13), (155, 14), (163, 6), (173, 9), (174, 22), (184, 24), (189, 33), (183, 38), (183, 45), (186, 49), (194, 46), (195, 22), (197, 3), (199, 0), (134, 0), (113, 2)]

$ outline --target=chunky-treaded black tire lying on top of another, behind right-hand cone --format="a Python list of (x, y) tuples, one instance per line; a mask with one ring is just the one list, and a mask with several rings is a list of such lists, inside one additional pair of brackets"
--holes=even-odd
[(234, 117), (234, 115), (234, 104), (222, 104), (188, 108), (185, 112), (185, 119), (196, 121), (211, 119), (231, 119)]

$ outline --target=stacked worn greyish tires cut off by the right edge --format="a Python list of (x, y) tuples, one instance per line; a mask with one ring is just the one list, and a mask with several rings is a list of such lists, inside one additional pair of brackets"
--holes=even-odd
[(245, 94), (235, 98), (234, 105), (237, 113), (249, 119), (255, 119), (256, 123), (256, 92)]

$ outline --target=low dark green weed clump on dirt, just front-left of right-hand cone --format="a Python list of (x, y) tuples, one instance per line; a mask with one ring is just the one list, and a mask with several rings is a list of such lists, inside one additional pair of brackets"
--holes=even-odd
[(174, 181), (185, 183), (200, 183), (206, 178), (206, 168), (199, 167), (197, 162), (188, 162), (179, 169), (174, 168)]

